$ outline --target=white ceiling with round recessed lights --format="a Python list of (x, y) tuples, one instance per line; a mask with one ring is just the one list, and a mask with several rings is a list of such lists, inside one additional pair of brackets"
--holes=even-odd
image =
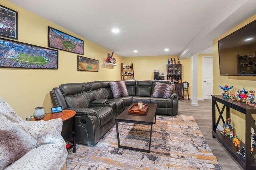
[[(191, 53), (208, 49), (213, 39), (256, 10), (256, 0), (9, 1), (122, 57), (190, 57)], [(243, 6), (244, 11), (238, 18), (233, 17), (232, 24), (223, 25)], [(218, 27), (221, 24), (222, 29)], [(120, 32), (112, 33), (113, 28)], [(164, 51), (165, 48), (170, 51)]]

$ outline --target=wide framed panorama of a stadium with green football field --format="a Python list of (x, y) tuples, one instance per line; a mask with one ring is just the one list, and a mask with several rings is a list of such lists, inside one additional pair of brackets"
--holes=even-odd
[(58, 51), (0, 38), (0, 67), (58, 69)]

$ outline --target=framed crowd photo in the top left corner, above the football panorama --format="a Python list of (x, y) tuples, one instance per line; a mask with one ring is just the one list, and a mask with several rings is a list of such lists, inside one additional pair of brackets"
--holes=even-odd
[(0, 36), (18, 39), (18, 12), (0, 5)]

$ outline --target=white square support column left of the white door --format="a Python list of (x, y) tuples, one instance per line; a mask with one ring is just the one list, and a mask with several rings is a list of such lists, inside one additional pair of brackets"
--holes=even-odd
[(191, 106), (198, 106), (197, 102), (197, 54), (191, 57)]

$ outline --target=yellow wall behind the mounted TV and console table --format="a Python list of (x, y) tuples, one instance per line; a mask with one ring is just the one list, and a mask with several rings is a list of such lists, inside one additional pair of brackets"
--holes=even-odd
[[(241, 27), (247, 25), (248, 23), (256, 20), (256, 15), (252, 16), (248, 20), (240, 23), (230, 31), (224, 33), (222, 36), (218, 37), (213, 41), (213, 94), (214, 95), (220, 95), (222, 93), (222, 90), (218, 88), (218, 85), (228, 85), (228, 86), (234, 86), (234, 88), (231, 90), (231, 93), (234, 94), (236, 90), (242, 89), (243, 87), (249, 91), (250, 89), (256, 90), (256, 77), (250, 77), (250, 76), (220, 76), (220, 70), (219, 70), (219, 57), (218, 57), (218, 40), (226, 37), (230, 33), (233, 33), (234, 31), (240, 29)], [(228, 65), (227, 67), (232, 67), (232, 65)], [(245, 115), (234, 111), (233, 109), (230, 109), (230, 112), (232, 113), (230, 115), (230, 118), (232, 119), (234, 123), (234, 129), (235, 133), (238, 135), (238, 137), (244, 141), (245, 140)], [(224, 119), (226, 117), (224, 116)], [(222, 125), (222, 123), (220, 123)]]

